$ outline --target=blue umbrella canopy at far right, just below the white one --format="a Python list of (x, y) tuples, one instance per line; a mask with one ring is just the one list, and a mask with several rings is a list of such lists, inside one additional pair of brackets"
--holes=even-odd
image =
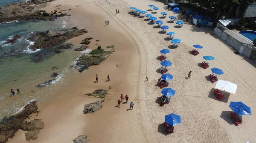
[(251, 115), (250, 107), (243, 104), (243, 102), (230, 102), (230, 109), (238, 115)]

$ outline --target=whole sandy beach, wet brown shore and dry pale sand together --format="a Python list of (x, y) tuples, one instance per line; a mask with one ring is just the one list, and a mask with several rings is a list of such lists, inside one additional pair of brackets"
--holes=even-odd
[[(115, 3), (115, 5), (114, 5)], [(40, 130), (37, 140), (30, 143), (72, 143), (79, 135), (87, 135), (90, 143), (246, 143), (256, 141), (256, 123), (254, 109), (256, 105), (256, 64), (233, 53), (225, 43), (212, 34), (212, 28), (198, 28), (185, 22), (182, 28), (176, 28), (175, 23), (167, 23), (169, 18), (160, 19), (160, 12), (167, 16), (178, 17), (181, 14), (164, 10), (164, 4), (149, 0), (55, 0), (48, 3), (47, 11), (52, 11), (60, 5), (61, 10), (71, 8), (67, 25), (87, 28), (88, 34), (70, 40), (79, 44), (87, 36), (93, 37), (90, 48), (101, 45), (115, 45), (116, 52), (105, 62), (90, 67), (83, 73), (72, 75), (61, 90), (54, 93), (58, 96), (50, 104), (40, 105), (40, 114), (35, 117), (42, 119), (45, 126)], [(154, 4), (160, 10), (153, 14), (163, 25), (168, 25), (168, 32), (175, 32), (175, 38), (181, 39), (178, 48), (173, 48), (171, 41), (166, 39), (161, 29), (148, 24), (146, 17), (136, 17), (129, 13), (129, 7), (141, 10), (150, 9), (148, 4)], [(116, 9), (120, 11), (116, 14)], [(151, 13), (152, 11), (147, 11)], [(67, 17), (64, 17), (67, 19)], [(105, 25), (105, 20), (110, 24)], [(99, 39), (98, 45), (96, 39)], [(200, 54), (189, 53), (192, 45), (199, 44), (204, 48)], [(157, 87), (157, 79), (161, 67), (157, 57), (161, 49), (171, 52), (166, 59), (172, 62), (168, 73), (174, 76), (168, 87), (176, 91), (169, 104), (160, 107), (156, 103), (161, 96)], [(198, 66), (204, 61), (202, 56), (214, 56), (210, 68), (217, 67), (224, 71), (218, 79), (233, 82), (238, 85), (236, 94), (225, 94), (218, 101), (213, 94), (215, 84), (207, 81), (210, 68)], [(116, 66), (118, 65), (118, 66)], [(191, 78), (186, 79), (189, 71)], [(95, 75), (99, 82), (93, 83)], [(111, 81), (107, 80), (110, 75)], [(148, 76), (149, 81), (145, 81)], [(85, 93), (96, 89), (107, 89), (109, 94), (102, 109), (95, 113), (83, 114), (84, 104), (99, 101), (99, 98), (87, 97)], [(128, 104), (116, 108), (120, 94), (128, 94), (134, 101), (134, 109), (128, 110)], [(251, 107), (252, 115), (243, 116), (243, 123), (235, 126), (230, 119), (230, 101), (242, 101)], [(165, 134), (162, 123), (164, 115), (175, 113), (181, 116), (181, 124), (175, 126), (174, 133)], [(34, 118), (34, 117), (32, 117)], [(23, 131), (18, 131), (8, 143), (27, 143)]]

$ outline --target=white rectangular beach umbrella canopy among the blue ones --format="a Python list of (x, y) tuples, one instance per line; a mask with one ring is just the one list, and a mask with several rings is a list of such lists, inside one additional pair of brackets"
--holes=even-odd
[(218, 90), (224, 90), (224, 92), (227, 91), (228, 93), (235, 94), (237, 85), (229, 81), (218, 80), (215, 88)]

